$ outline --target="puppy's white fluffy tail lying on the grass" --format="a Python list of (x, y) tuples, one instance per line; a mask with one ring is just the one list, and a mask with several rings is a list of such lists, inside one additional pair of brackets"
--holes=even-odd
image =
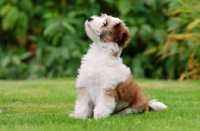
[(164, 103), (157, 101), (156, 99), (149, 101), (150, 110), (160, 111), (168, 108)]

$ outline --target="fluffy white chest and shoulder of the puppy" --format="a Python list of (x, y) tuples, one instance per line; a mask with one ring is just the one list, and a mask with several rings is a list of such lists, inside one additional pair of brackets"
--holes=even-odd
[(115, 88), (130, 75), (121, 58), (85, 56), (79, 70), (78, 85), (89, 88)]

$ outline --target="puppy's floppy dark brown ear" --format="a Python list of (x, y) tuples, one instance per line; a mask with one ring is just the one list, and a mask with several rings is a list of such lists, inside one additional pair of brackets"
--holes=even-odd
[(112, 29), (112, 37), (119, 47), (125, 48), (130, 41), (130, 33), (123, 22), (117, 23)]

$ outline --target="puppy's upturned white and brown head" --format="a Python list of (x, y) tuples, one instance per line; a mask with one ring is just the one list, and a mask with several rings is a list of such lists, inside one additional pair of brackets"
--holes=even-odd
[(124, 48), (130, 41), (130, 33), (124, 22), (106, 14), (100, 17), (92, 16), (86, 20), (85, 30), (94, 42), (113, 42)]

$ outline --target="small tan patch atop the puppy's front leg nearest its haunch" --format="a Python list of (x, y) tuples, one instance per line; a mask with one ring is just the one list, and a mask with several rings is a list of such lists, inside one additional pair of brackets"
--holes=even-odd
[(104, 97), (105, 97), (105, 100), (109, 101), (111, 99), (115, 99), (115, 102), (118, 101), (118, 96), (117, 96), (117, 92), (115, 89), (104, 89)]

